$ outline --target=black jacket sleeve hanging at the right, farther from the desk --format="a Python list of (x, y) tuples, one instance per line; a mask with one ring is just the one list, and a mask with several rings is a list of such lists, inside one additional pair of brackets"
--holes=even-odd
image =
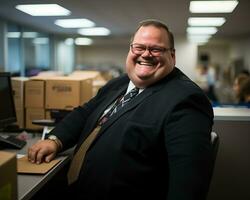
[(213, 113), (209, 103), (200, 106), (207, 108), (207, 113), (198, 109), (197, 101), (186, 99), (175, 107), (165, 123), (168, 200), (206, 199), (212, 167)]

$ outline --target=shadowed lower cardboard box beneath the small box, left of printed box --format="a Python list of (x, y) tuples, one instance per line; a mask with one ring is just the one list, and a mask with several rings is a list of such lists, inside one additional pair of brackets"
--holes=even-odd
[(32, 124), (33, 120), (45, 119), (45, 109), (44, 108), (26, 108), (26, 129), (32, 130), (42, 130), (43, 126)]

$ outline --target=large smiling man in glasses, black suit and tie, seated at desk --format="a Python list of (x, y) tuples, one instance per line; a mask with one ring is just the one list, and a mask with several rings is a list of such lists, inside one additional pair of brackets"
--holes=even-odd
[(174, 38), (164, 23), (139, 24), (126, 71), (30, 147), (29, 160), (49, 162), (77, 144), (68, 172), (75, 199), (205, 200), (213, 111), (175, 67)]

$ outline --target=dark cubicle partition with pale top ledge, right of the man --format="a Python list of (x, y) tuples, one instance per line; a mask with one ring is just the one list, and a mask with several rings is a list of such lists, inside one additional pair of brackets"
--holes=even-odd
[(250, 199), (250, 109), (214, 108), (220, 146), (207, 200)]

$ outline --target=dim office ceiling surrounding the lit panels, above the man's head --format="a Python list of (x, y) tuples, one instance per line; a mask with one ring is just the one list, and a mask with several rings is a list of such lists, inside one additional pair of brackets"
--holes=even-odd
[[(64, 17), (31, 17), (17, 9), (17, 4), (57, 3), (72, 13)], [(239, 0), (231, 14), (225, 16), (226, 23), (219, 28), (214, 38), (250, 36), (250, 1)], [(97, 26), (111, 30), (109, 38), (126, 38), (133, 33), (138, 22), (155, 18), (166, 22), (175, 35), (185, 35), (187, 18), (202, 16), (189, 12), (188, 0), (0, 0), (0, 17), (49, 33), (79, 36), (77, 29), (64, 29), (54, 24), (56, 19), (88, 18)], [(205, 16), (205, 15), (203, 15)]]

